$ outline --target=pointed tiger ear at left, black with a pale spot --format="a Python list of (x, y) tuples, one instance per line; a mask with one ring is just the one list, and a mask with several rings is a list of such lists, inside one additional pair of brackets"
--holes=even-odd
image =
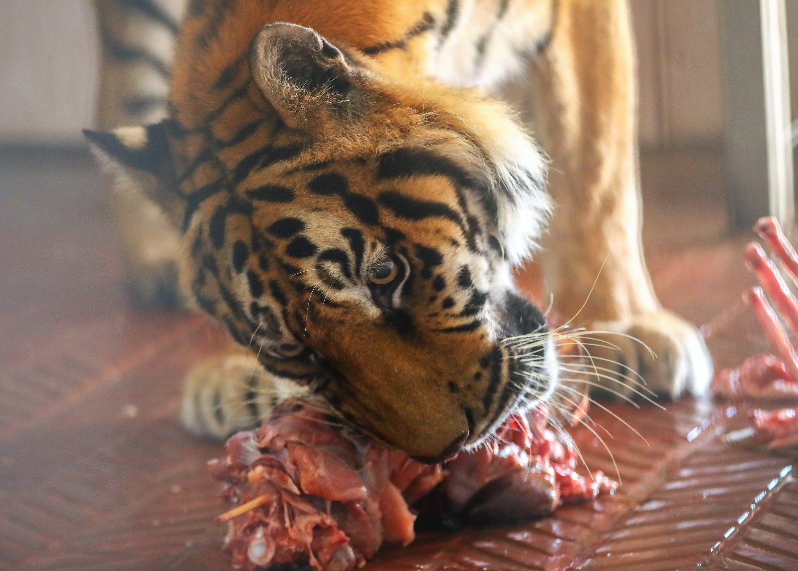
[(180, 223), (185, 201), (175, 183), (164, 121), (109, 132), (85, 129), (83, 134), (102, 169), (113, 176), (118, 191), (143, 192), (170, 222)]

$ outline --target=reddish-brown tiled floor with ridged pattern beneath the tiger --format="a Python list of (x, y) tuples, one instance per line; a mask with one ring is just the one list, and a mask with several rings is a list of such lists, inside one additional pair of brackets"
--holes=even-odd
[[(722, 365), (762, 340), (739, 301), (752, 280), (746, 237), (729, 237), (719, 201), (720, 164), (648, 157), (643, 181), (655, 285), (705, 325)], [(224, 337), (202, 317), (128, 305), (85, 154), (0, 154), (0, 268), (0, 569), (229, 569), (213, 522), (225, 506), (204, 466), (221, 447), (176, 422), (182, 376)], [(723, 439), (746, 404), (610, 408), (647, 441), (593, 409), (612, 435), (614, 497), (425, 535), (369, 568), (798, 569), (796, 458)], [(591, 469), (614, 474), (594, 435), (575, 438)]]

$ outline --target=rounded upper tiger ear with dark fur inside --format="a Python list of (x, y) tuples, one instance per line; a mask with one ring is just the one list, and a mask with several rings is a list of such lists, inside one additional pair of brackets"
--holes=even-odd
[(358, 70), (314, 30), (294, 24), (264, 26), (252, 42), (255, 84), (292, 128), (323, 127), (358, 107)]

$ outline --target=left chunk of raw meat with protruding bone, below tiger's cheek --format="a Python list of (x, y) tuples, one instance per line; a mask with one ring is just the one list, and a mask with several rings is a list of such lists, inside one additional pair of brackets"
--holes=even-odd
[(346, 438), (296, 402), (226, 448), (227, 458), (210, 468), (223, 495), (239, 504), (220, 516), (230, 522), (226, 545), (235, 569), (354, 569), (383, 541), (413, 541), (408, 500), (443, 478), (440, 466)]

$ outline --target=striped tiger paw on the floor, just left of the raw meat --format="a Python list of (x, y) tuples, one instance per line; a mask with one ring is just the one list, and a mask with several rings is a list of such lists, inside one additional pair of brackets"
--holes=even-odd
[(305, 389), (267, 372), (255, 356), (231, 352), (189, 373), (180, 419), (192, 434), (225, 439), (256, 427), (282, 400), (302, 394)]

